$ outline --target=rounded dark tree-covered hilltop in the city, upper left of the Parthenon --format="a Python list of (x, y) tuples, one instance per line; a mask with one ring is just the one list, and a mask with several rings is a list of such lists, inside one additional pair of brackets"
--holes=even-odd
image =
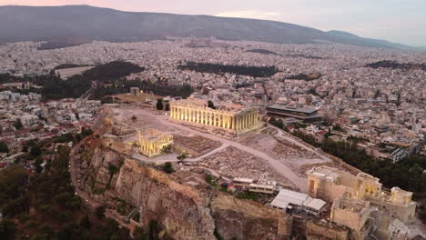
[(123, 76), (143, 71), (145, 71), (145, 68), (139, 65), (124, 61), (114, 61), (105, 65), (96, 65), (94, 68), (87, 70), (83, 77), (90, 81), (107, 81), (117, 80)]

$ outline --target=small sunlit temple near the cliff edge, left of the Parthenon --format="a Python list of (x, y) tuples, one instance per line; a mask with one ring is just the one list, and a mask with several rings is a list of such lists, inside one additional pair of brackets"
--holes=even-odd
[(167, 145), (173, 144), (173, 135), (161, 132), (157, 129), (137, 130), (137, 143), (140, 152), (147, 157), (161, 155), (161, 150)]

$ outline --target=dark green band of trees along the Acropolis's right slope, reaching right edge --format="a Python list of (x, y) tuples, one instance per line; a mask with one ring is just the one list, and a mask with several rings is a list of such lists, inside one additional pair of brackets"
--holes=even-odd
[(426, 169), (426, 156), (411, 155), (393, 164), (390, 159), (382, 160), (367, 155), (355, 143), (336, 142), (327, 138), (319, 143), (312, 135), (299, 131), (295, 131), (294, 135), (309, 145), (320, 147), (324, 152), (339, 157), (345, 163), (380, 178), (380, 182), (388, 188), (399, 186), (413, 192), (418, 199), (426, 196), (426, 175), (422, 174), (422, 170)]

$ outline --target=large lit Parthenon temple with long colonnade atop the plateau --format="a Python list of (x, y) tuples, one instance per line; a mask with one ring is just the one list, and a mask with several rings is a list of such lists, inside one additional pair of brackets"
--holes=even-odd
[(242, 133), (258, 126), (259, 109), (243, 105), (222, 105), (213, 109), (208, 107), (206, 100), (191, 98), (171, 102), (170, 119)]

